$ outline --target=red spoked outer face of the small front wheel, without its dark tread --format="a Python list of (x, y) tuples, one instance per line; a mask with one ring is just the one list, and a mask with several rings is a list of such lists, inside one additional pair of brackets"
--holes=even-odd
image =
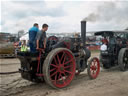
[(93, 78), (96, 78), (100, 72), (100, 62), (97, 58), (94, 58), (90, 64), (90, 74)]

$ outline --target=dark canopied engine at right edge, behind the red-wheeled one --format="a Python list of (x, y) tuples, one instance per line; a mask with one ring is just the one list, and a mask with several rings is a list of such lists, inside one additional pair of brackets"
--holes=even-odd
[[(107, 40), (106, 50), (101, 50), (100, 61), (104, 69), (119, 65), (121, 71), (128, 69), (128, 30), (99, 31), (96, 36)], [(104, 42), (103, 42), (104, 43)]]

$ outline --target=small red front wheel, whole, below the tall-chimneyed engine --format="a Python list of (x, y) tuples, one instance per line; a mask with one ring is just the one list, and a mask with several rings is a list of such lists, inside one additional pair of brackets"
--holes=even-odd
[(90, 79), (96, 79), (100, 72), (100, 62), (97, 57), (91, 58), (87, 69)]

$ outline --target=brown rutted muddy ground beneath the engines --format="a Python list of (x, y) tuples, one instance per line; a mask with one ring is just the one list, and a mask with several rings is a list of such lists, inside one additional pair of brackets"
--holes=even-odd
[[(98, 53), (93, 53), (98, 56)], [(0, 59), (0, 72), (16, 71), (20, 61), (16, 58)], [(1, 96), (128, 96), (128, 71), (117, 67), (101, 70), (95, 80), (90, 80), (87, 70), (76, 76), (66, 88), (56, 90), (45, 83), (33, 83), (21, 78), (19, 73), (0, 75)]]

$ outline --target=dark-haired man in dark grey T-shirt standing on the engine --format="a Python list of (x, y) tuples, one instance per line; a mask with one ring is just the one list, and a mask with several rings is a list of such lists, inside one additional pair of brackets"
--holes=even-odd
[[(37, 33), (36, 37), (36, 49), (45, 49), (46, 48), (46, 31), (48, 30), (48, 25), (43, 24), (42, 29)], [(44, 52), (44, 51), (43, 51)]]

